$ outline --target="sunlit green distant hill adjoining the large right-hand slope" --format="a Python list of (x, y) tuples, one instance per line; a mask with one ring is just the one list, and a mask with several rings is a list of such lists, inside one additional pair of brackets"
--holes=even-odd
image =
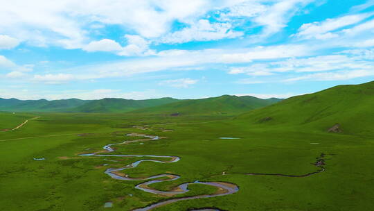
[[(278, 99), (280, 100), (280, 99)], [(134, 110), (134, 115), (237, 115), (275, 103), (274, 99), (258, 99), (254, 96), (222, 95), (206, 99), (191, 99)]]

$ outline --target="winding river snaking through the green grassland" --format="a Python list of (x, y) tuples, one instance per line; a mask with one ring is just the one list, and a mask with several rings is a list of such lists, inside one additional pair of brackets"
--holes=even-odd
[[(160, 138), (158, 136), (152, 136), (152, 135), (144, 135), (144, 134), (137, 134), (137, 133), (131, 133), (127, 134), (127, 136), (139, 136), (139, 137), (146, 137), (148, 139), (143, 140), (131, 140), (131, 141), (125, 141), (117, 144), (130, 144), (134, 142), (145, 142), (145, 141), (154, 141), (159, 140)], [(117, 144), (108, 144), (103, 147), (105, 149), (105, 152), (111, 153), (115, 150), (112, 148), (112, 146)], [(149, 185), (154, 183), (161, 183), (165, 181), (172, 181), (177, 180), (180, 178), (180, 176), (175, 174), (159, 174), (155, 176), (150, 176), (148, 178), (131, 178), (127, 176), (127, 174), (123, 174), (120, 171), (123, 171), (125, 169), (132, 169), (136, 168), (141, 162), (161, 162), (161, 163), (170, 163), (170, 162), (178, 162), (180, 160), (177, 156), (168, 156), (168, 155), (112, 155), (112, 154), (98, 154), (98, 153), (87, 153), (87, 154), (80, 154), (81, 156), (95, 156), (95, 157), (139, 157), (139, 158), (148, 158), (148, 159), (141, 159), (136, 162), (132, 162), (131, 164), (127, 164), (125, 167), (121, 168), (109, 168), (105, 170), (105, 174), (108, 176), (116, 179), (116, 180), (147, 180), (144, 183), (141, 183), (139, 185), (136, 185), (136, 189), (141, 189), (144, 192), (152, 193), (152, 194), (158, 194), (162, 196), (175, 196), (177, 194), (184, 194), (188, 192), (188, 185), (190, 184), (202, 184), (202, 185), (210, 185), (213, 187), (217, 187), (219, 191), (215, 192), (215, 194), (205, 194), (205, 195), (198, 195), (198, 196), (186, 196), (181, 197), (178, 199), (169, 199), (166, 201), (161, 201), (158, 203), (153, 203), (151, 205), (148, 205), (145, 208), (138, 208), (133, 211), (147, 211), (152, 210), (154, 208), (161, 207), (163, 205), (167, 205), (170, 203), (175, 203), (177, 201), (185, 201), (185, 200), (192, 200), (192, 199), (203, 199), (203, 198), (211, 198), (211, 197), (217, 197), (217, 196), (225, 196), (229, 194), (234, 194), (235, 192), (239, 191), (239, 187), (237, 185), (231, 184), (231, 183), (223, 183), (223, 182), (200, 182), (195, 181), (192, 183), (182, 183), (181, 185), (178, 185), (177, 187), (173, 188), (171, 191), (161, 191), (154, 189), (152, 187), (149, 187)], [(170, 158), (168, 161), (161, 161), (161, 160), (154, 160), (154, 158)]]

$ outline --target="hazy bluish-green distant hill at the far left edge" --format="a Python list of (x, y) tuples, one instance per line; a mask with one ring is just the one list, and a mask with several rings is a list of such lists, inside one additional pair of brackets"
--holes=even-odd
[(45, 99), (28, 101), (21, 101), (18, 99), (0, 99), (0, 110), (12, 112), (57, 112), (67, 110), (69, 108), (74, 108), (87, 102), (89, 101), (83, 101), (80, 99), (66, 99), (55, 101), (47, 101)]

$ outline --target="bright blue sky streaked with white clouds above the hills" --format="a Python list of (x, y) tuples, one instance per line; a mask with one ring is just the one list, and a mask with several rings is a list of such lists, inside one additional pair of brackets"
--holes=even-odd
[(1, 1), (0, 97), (286, 98), (374, 81), (374, 1)]

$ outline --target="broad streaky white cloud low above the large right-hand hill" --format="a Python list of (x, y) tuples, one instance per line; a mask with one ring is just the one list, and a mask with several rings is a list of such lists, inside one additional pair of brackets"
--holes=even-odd
[[(229, 74), (247, 74), (253, 78), (242, 78), (236, 83), (256, 84), (258, 76), (278, 74), (280, 82), (292, 81), (344, 81), (352, 78), (374, 76), (374, 53), (371, 49), (353, 49), (337, 54), (309, 58), (288, 58), (276, 62), (256, 62), (252, 65), (231, 67)], [(310, 74), (312, 72), (312, 74)]]

